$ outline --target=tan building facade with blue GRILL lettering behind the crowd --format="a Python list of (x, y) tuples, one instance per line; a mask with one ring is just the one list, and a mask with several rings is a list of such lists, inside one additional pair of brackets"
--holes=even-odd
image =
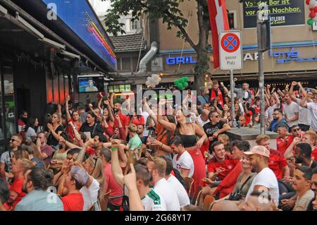
[[(244, 54), (243, 69), (234, 71), (238, 80), (248, 80), (251, 86), (258, 87), (258, 56), (256, 36), (256, 8), (261, 1), (226, 1), (230, 28), (242, 31)], [(265, 82), (277, 87), (285, 87), (292, 80), (302, 81), (304, 85), (316, 87), (317, 83), (317, 31), (306, 25), (309, 8), (304, 1), (290, 0), (276, 4), (269, 3), (271, 15), (271, 51), (264, 53)], [(180, 4), (182, 13), (188, 20), (187, 32), (194, 43), (198, 42), (198, 20), (196, 1), (184, 1)], [(182, 75), (194, 80), (194, 67), (197, 54), (184, 39), (176, 37), (177, 28), (167, 29), (161, 20), (148, 22), (144, 26), (148, 49), (154, 41), (159, 43), (159, 50), (148, 65), (144, 75), (130, 75), (132, 85), (144, 85), (152, 73), (161, 75), (160, 85), (173, 83)], [(211, 34), (209, 35), (211, 43)], [(229, 85), (229, 71), (213, 69), (213, 51), (209, 48), (209, 75), (212, 79), (223, 80)], [(206, 75), (206, 77), (209, 77)]]

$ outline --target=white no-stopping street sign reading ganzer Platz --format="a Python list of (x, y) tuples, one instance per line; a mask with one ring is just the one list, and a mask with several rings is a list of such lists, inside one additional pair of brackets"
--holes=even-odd
[(230, 30), (220, 32), (219, 54), (220, 69), (222, 71), (241, 70), (242, 64), (242, 40), (241, 32)]

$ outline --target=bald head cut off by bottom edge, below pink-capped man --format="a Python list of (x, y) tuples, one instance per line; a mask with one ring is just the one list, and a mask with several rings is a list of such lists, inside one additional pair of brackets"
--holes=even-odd
[(267, 192), (252, 192), (241, 211), (271, 211), (271, 195)]

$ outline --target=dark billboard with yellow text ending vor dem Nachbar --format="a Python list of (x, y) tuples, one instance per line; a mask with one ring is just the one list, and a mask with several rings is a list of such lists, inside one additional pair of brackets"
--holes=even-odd
[(256, 14), (261, 3), (266, 3), (268, 6), (272, 27), (305, 24), (305, 1), (245, 0), (243, 1), (244, 28), (256, 28)]

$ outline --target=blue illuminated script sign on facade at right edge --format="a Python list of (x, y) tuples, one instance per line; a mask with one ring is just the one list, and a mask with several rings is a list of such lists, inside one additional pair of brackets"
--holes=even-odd
[(292, 62), (313, 62), (317, 61), (317, 56), (299, 58), (299, 51), (294, 51), (292, 48), (290, 51), (275, 51), (270, 50), (271, 57), (282, 57), (282, 59), (277, 59), (276, 63), (292, 63)]

